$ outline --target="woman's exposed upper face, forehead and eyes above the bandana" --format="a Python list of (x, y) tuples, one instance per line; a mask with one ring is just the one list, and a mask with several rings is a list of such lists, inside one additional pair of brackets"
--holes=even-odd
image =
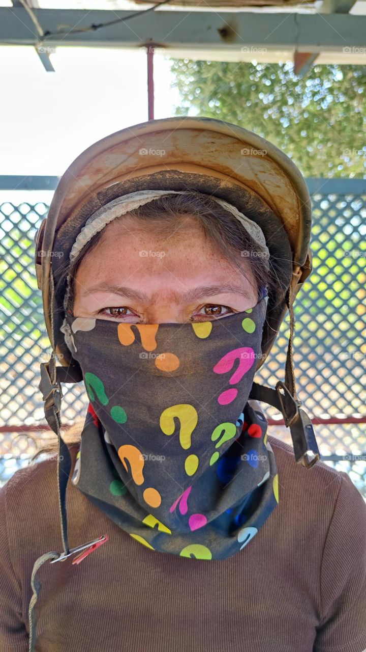
[(75, 317), (128, 323), (212, 321), (257, 303), (246, 258), (244, 276), (184, 216), (171, 233), (133, 216), (111, 222), (85, 254), (75, 279)]

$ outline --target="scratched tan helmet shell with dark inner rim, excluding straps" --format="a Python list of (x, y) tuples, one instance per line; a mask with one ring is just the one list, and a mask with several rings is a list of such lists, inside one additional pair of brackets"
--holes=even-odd
[[(59, 180), (36, 234), (35, 266), (44, 317), (63, 366), (78, 363), (61, 325), (66, 288), (50, 303), (72, 244), (87, 218), (107, 202), (141, 189), (198, 190), (229, 201), (257, 222), (270, 254), (281, 260), (278, 287), (270, 292), (262, 334), (267, 359), (292, 301), (311, 273), (311, 204), (302, 174), (280, 149), (253, 132), (206, 117), (169, 117), (124, 128), (88, 147)], [(61, 255), (53, 255), (55, 253)]]

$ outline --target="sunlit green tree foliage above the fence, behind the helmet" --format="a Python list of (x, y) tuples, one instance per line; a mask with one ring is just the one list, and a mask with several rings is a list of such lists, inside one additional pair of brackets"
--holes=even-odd
[(282, 149), (305, 177), (363, 177), (366, 111), (363, 66), (175, 60), (176, 115), (216, 117)]

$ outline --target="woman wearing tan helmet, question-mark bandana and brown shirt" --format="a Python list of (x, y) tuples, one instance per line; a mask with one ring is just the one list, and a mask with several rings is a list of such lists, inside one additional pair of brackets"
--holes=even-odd
[[(135, 125), (66, 170), (36, 244), (59, 455), (0, 491), (1, 651), (365, 649), (366, 506), (318, 461), (292, 369), (310, 226), (289, 158), (213, 119)], [(285, 383), (263, 387), (287, 309)]]

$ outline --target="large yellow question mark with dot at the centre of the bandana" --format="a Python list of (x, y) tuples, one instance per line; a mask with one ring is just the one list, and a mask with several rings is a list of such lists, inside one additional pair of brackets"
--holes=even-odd
[[(171, 406), (163, 410), (160, 415), (160, 428), (165, 435), (175, 432), (175, 417), (180, 421), (179, 441), (185, 451), (191, 447), (191, 434), (197, 426), (198, 415), (193, 406), (187, 403)], [(187, 475), (194, 475), (199, 465), (197, 455), (189, 455), (184, 462)]]

